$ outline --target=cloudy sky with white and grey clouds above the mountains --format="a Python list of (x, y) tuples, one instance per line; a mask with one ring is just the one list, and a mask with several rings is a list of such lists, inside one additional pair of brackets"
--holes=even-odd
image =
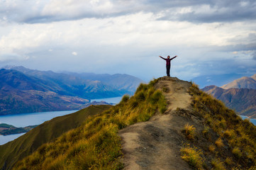
[(145, 81), (256, 73), (255, 0), (0, 0), (0, 67)]

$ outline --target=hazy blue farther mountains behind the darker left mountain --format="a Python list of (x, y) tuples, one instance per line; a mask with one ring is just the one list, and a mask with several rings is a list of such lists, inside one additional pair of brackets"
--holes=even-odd
[(48, 81), (49, 84), (54, 84), (54, 86), (60, 89), (54, 91), (57, 94), (79, 96), (87, 99), (133, 94), (138, 85), (143, 82), (141, 79), (127, 74), (56, 73), (27, 69), (21, 66), (5, 68), (14, 69), (23, 74)]

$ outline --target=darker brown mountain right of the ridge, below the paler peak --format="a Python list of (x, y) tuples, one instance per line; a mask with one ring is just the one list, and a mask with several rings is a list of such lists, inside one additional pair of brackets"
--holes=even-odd
[(206, 86), (202, 90), (223, 101), (228, 108), (239, 114), (256, 118), (256, 89), (222, 89), (217, 86)]

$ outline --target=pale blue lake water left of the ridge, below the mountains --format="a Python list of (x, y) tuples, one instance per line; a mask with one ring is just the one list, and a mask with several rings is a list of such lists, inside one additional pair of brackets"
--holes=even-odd
[[(114, 98), (96, 98), (92, 101), (106, 101), (107, 103), (119, 103), (123, 96)], [(47, 120), (51, 120), (57, 116), (67, 115), (76, 111), (52, 111), (52, 112), (40, 112), (40, 113), (22, 113), (17, 115), (0, 115), (0, 123), (6, 123), (16, 126), (18, 128), (26, 127), (29, 125), (40, 125)], [(0, 145), (4, 145), (11, 140), (24, 135), (25, 133), (19, 133), (14, 135), (2, 136), (0, 135)]]

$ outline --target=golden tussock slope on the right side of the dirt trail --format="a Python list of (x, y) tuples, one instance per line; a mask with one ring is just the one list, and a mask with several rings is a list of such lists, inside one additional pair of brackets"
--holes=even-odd
[[(202, 121), (184, 127), (182, 159), (194, 169), (256, 169), (256, 127), (221, 101), (191, 86), (192, 115)], [(196, 128), (198, 127), (198, 128)]]

